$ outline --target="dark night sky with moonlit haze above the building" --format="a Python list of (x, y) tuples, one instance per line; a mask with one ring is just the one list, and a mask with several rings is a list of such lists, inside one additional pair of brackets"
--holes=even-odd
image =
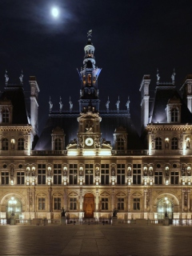
[[(59, 16), (51, 15), (58, 7)], [(5, 70), (10, 83), (24, 74), (24, 89), (30, 90), (29, 76), (37, 78), (40, 94), (40, 131), (49, 114), (49, 98), (54, 110), (69, 110), (69, 100), (78, 110), (80, 81), (87, 31), (93, 30), (100, 110), (110, 110), (120, 98), (139, 130), (139, 87), (144, 74), (151, 75), (151, 97), (156, 84), (170, 82), (175, 69), (179, 89), (186, 74), (192, 74), (192, 1), (128, 0), (0, 0), (0, 90)]]

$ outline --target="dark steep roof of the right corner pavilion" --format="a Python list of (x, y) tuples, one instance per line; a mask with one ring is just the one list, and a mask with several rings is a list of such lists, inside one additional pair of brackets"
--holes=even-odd
[(192, 114), (185, 102), (178, 94), (175, 86), (157, 86), (154, 93), (154, 102), (150, 110), (150, 122), (167, 123), (166, 106), (167, 104), (181, 105), (181, 123), (192, 122)]

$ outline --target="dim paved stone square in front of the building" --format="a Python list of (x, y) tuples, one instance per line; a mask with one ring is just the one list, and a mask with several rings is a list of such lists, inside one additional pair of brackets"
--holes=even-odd
[(191, 256), (192, 226), (0, 226), (0, 255)]

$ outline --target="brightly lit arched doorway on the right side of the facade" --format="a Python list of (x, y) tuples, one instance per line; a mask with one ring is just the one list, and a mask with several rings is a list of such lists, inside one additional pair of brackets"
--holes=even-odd
[(157, 203), (158, 219), (173, 218), (174, 202), (170, 198), (161, 198)]

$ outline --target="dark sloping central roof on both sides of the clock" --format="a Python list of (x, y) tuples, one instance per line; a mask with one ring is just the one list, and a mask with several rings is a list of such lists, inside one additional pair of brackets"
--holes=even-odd
[[(66, 113), (52, 113), (47, 119), (46, 126), (42, 130), (42, 134), (38, 139), (38, 143), (34, 150), (51, 150), (51, 134), (52, 130), (57, 126), (64, 130), (65, 142), (67, 146), (71, 140), (77, 138), (78, 133), (78, 112), (66, 112)], [(130, 118), (130, 114), (126, 110), (119, 111), (106, 111), (100, 112), (101, 132), (102, 138), (111, 142), (114, 147), (114, 133), (118, 127), (126, 129), (127, 137), (127, 149), (128, 150), (140, 150), (143, 149), (142, 142), (138, 136), (138, 132), (134, 127), (134, 124)], [(124, 134), (124, 131), (123, 133)]]

